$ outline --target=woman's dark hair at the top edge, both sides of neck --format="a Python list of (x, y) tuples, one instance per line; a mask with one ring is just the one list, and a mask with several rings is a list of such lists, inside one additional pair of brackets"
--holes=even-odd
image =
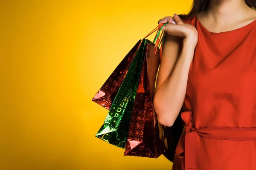
[[(244, 1), (247, 4), (247, 6), (256, 10), (256, 0), (244, 0)], [(204, 11), (205, 9), (207, 9), (208, 4), (209, 4), (209, 0), (193, 0), (192, 8), (189, 11), (189, 13), (180, 14), (179, 17), (181, 20), (185, 20), (187, 17), (194, 16), (200, 13), (201, 11)]]

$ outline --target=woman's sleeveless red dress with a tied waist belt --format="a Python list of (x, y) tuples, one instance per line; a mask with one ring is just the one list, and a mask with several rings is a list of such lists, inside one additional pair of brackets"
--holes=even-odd
[(256, 20), (221, 33), (183, 22), (198, 44), (172, 170), (256, 170)]

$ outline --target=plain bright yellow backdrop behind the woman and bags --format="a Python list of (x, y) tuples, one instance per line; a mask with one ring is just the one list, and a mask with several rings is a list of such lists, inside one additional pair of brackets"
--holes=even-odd
[(108, 111), (91, 99), (160, 18), (191, 3), (1, 1), (0, 170), (170, 170), (94, 137)]

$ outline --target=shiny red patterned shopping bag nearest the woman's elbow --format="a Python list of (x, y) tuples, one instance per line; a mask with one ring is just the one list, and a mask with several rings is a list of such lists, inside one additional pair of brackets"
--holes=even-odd
[(153, 42), (146, 43), (124, 155), (157, 158), (167, 150), (165, 127), (157, 122), (152, 103), (160, 54)]

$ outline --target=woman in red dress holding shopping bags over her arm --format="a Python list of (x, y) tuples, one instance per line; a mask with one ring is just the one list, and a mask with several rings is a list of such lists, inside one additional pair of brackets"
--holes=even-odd
[(194, 0), (168, 23), (158, 121), (185, 123), (173, 170), (256, 170), (256, 0)]

